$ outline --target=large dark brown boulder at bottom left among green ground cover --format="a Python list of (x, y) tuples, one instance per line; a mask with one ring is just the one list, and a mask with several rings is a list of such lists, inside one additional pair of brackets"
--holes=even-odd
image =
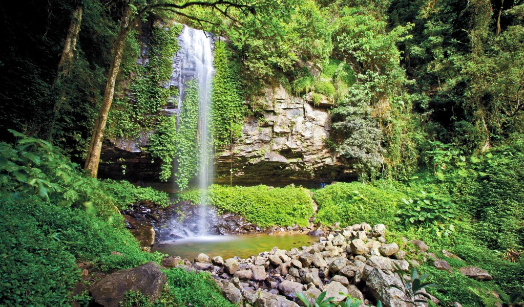
[(97, 281), (90, 292), (96, 303), (106, 307), (118, 307), (125, 301), (125, 293), (129, 290), (138, 291), (154, 302), (160, 298), (167, 277), (160, 266), (149, 262), (137, 268), (114, 272)]

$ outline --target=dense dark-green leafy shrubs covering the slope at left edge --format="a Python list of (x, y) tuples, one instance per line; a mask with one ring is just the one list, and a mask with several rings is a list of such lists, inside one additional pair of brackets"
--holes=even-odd
[[(116, 209), (125, 205), (119, 202), (124, 197), (104, 194), (99, 181), (83, 177), (49, 143), (15, 135), (17, 144), (0, 143), (0, 212), (6, 217), (0, 219), (0, 293), (5, 305), (70, 305), (80, 260), (110, 270), (160, 259), (158, 253), (142, 252), (125, 228)], [(130, 184), (105, 185), (134, 198), (147, 195)]]

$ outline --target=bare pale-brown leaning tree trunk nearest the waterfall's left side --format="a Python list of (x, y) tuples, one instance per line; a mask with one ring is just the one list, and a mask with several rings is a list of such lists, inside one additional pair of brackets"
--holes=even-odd
[(122, 17), (122, 25), (118, 32), (118, 38), (116, 40), (115, 47), (113, 48), (113, 63), (107, 76), (107, 83), (105, 86), (104, 97), (102, 99), (102, 105), (100, 106), (99, 116), (95, 120), (95, 126), (93, 128), (93, 134), (91, 137), (91, 143), (89, 145), (88, 156), (85, 160), (84, 169), (89, 170), (91, 177), (96, 178), (98, 174), (98, 166), (100, 161), (100, 152), (102, 151), (102, 141), (104, 139), (105, 124), (107, 122), (107, 114), (111, 108), (113, 96), (115, 94), (115, 83), (120, 69), (120, 63), (122, 61), (122, 53), (125, 47), (125, 41), (130, 28), (130, 16), (131, 10), (129, 7), (125, 9), (124, 16)]

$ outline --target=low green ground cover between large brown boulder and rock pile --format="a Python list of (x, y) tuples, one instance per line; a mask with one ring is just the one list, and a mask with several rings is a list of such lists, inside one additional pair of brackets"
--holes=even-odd
[(235, 306), (222, 297), (213, 277), (204, 272), (188, 272), (181, 268), (163, 270), (167, 275), (172, 302), (165, 306)]

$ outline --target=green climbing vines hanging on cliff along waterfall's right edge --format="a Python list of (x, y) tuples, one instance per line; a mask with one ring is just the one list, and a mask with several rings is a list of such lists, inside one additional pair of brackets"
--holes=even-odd
[(212, 94), (213, 142), (215, 146), (230, 144), (240, 137), (246, 106), (242, 98), (238, 67), (225, 43), (215, 43)]

